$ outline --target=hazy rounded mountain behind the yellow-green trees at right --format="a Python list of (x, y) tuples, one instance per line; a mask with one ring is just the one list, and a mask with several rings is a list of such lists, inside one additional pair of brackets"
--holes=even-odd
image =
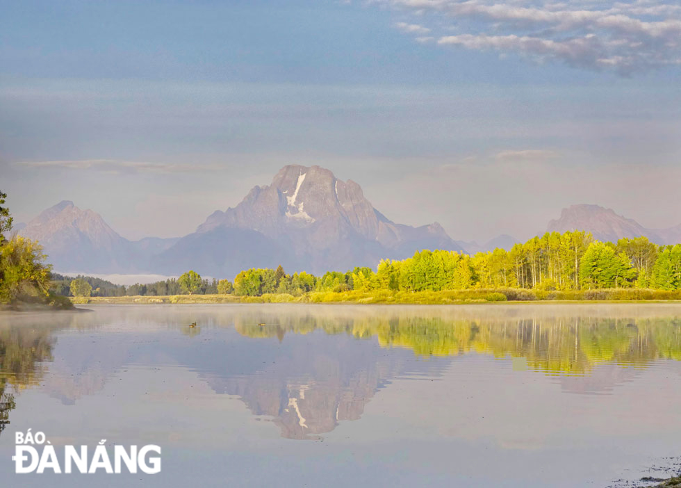
[(668, 229), (647, 229), (636, 220), (618, 215), (599, 205), (572, 205), (561, 211), (560, 218), (551, 220), (546, 231), (589, 231), (598, 241), (616, 243), (621, 238), (646, 236), (657, 244), (681, 242), (681, 225)]

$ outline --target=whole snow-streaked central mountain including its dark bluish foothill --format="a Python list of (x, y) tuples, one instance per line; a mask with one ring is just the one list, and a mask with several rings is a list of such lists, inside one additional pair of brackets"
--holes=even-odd
[(438, 223), (411, 227), (377, 211), (352, 180), (319, 166), (288, 165), (269, 186), (255, 186), (240, 204), (215, 211), (197, 230), (152, 259), (156, 273), (233, 276), (281, 263), (290, 271), (324, 273), (375, 267), (416, 250), (461, 251)]

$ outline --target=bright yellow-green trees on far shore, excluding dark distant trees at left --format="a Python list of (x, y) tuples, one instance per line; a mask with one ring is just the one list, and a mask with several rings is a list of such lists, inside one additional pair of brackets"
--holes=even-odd
[(681, 245), (656, 245), (646, 237), (617, 243), (595, 241), (589, 232), (546, 233), (511, 250), (468, 255), (422, 250), (402, 260), (381, 260), (376, 270), (354, 268), (287, 275), (252, 268), (234, 279), (233, 293), (263, 295), (308, 291), (443, 291), (525, 288), (543, 291), (602, 288), (681, 289)]

